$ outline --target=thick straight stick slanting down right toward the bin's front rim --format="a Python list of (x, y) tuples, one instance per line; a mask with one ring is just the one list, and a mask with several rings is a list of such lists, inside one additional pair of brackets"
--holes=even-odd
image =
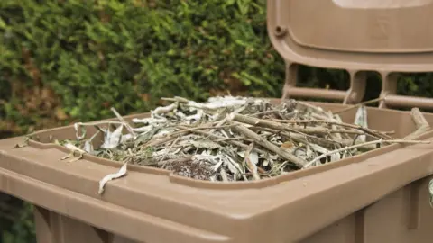
[(307, 161), (300, 159), (299, 157), (296, 157), (296, 156), (290, 154), (289, 152), (273, 145), (272, 142), (270, 142), (266, 139), (263, 139), (262, 137), (257, 135), (257, 133), (253, 132), (253, 130), (249, 130), (248, 128), (246, 128), (244, 126), (235, 126), (233, 128), (233, 130), (244, 134), (244, 136), (248, 137), (249, 139), (253, 139), (260, 146), (263, 146), (263, 148), (268, 148), (272, 152), (278, 154), (280, 157), (282, 157), (286, 160), (289, 160), (290, 162), (292, 162), (296, 166), (302, 167), (303, 165), (305, 165), (307, 163)]

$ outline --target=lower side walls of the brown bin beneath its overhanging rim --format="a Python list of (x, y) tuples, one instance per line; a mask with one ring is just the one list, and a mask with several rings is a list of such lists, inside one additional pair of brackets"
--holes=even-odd
[[(430, 242), (429, 228), (433, 225), (433, 213), (427, 203), (427, 191), (428, 178), (419, 179), (379, 201), (373, 202), (362, 210), (355, 211), (341, 220), (336, 220), (326, 228), (318, 230), (318, 232), (298, 242)], [(337, 198), (336, 200), (345, 200), (345, 198)], [(318, 203), (318, 206), (320, 204), (322, 203)], [(324, 210), (326, 210), (326, 205)], [(79, 220), (72, 220), (59, 213), (40, 207), (36, 207), (34, 214), (38, 242), (139, 242), (98, 229)], [(287, 227), (290, 229), (290, 225)], [(272, 242), (291, 241), (278, 240)]]

